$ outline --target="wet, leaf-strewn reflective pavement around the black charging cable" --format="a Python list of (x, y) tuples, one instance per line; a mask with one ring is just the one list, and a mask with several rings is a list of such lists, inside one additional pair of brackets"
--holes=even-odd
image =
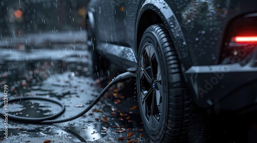
[[(66, 110), (57, 119), (74, 116), (88, 106), (109, 81), (91, 78), (90, 54), (85, 45), (57, 47), (62, 46), (63, 49), (52, 46), (30, 51), (0, 49), (1, 100), (6, 84), (10, 87), (9, 99), (45, 97), (62, 102)], [(9, 138), (4, 139), (4, 124), (0, 124), (0, 139), (5, 142), (48, 139), (54, 142), (148, 142), (137, 101), (125, 84), (113, 86), (93, 109), (70, 122), (40, 125), (9, 120)], [(39, 100), (9, 103), (9, 113), (23, 117), (44, 117), (59, 110), (59, 105)]]

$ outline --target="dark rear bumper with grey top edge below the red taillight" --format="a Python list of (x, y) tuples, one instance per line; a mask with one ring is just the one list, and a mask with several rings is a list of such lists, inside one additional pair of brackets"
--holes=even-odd
[(214, 111), (257, 109), (257, 50), (240, 63), (192, 66), (186, 71), (197, 105)]

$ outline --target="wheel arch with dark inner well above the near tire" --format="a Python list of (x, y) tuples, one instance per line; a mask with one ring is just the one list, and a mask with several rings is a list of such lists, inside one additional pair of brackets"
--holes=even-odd
[[(192, 66), (186, 39), (183, 36), (180, 23), (170, 6), (164, 0), (160, 1), (161, 2), (146, 0), (140, 4), (136, 19), (136, 54), (144, 31), (151, 25), (162, 23), (169, 31), (171, 39), (173, 40), (183, 67), (182, 70), (186, 71)], [(166, 8), (163, 8), (163, 4)]]

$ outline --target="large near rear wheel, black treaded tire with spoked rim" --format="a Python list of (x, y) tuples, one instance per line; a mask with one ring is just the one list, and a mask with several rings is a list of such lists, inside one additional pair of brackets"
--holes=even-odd
[[(144, 128), (151, 140), (201, 142), (202, 128), (197, 129), (199, 133), (195, 132), (198, 123), (189, 121), (193, 112), (190, 96), (178, 55), (166, 28), (153, 25), (145, 30), (137, 61), (139, 108)], [(189, 122), (192, 124), (189, 125)], [(193, 136), (198, 136), (198, 141)]]

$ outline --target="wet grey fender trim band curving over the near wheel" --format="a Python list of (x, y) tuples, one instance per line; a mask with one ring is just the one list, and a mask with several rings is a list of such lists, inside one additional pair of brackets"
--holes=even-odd
[[(182, 70), (186, 71), (187, 69), (189, 69), (192, 66), (192, 61), (190, 59), (187, 42), (185, 40), (185, 37), (183, 36), (179, 21), (177, 20), (173, 10), (170, 8), (166, 1), (141, 1), (140, 8), (137, 14), (138, 16), (136, 19), (135, 37), (137, 37), (140, 17), (146, 10), (155, 11), (159, 15), (159, 17), (161, 17), (162, 21), (164, 21), (164, 26), (168, 29), (175, 45), (175, 49), (179, 55)], [(135, 39), (137, 40), (137, 38)], [(137, 41), (135, 43), (137, 43)]]

